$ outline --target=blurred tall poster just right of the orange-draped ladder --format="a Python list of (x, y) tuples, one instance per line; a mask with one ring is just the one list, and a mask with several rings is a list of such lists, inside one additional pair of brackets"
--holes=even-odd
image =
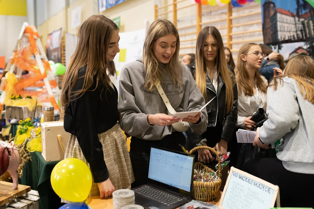
[(55, 63), (61, 63), (61, 36), (62, 28), (54, 30), (47, 37), (47, 58)]

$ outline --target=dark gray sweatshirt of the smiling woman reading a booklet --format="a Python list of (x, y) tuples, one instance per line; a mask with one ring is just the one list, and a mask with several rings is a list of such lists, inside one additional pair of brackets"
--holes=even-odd
[[(190, 70), (181, 63), (183, 71), (182, 88), (174, 85), (171, 78), (164, 71), (161, 87), (165, 91), (170, 104), (176, 112), (196, 111), (205, 105), (204, 97), (198, 89)], [(168, 114), (158, 91), (146, 91), (145, 70), (142, 59), (129, 63), (123, 67), (120, 75), (118, 109), (122, 115), (121, 129), (128, 136), (135, 136), (144, 140), (161, 140), (175, 130), (171, 125), (149, 125), (149, 114)], [(190, 124), (196, 133), (202, 134), (207, 128), (206, 108), (202, 110), (201, 121), (198, 124)]]

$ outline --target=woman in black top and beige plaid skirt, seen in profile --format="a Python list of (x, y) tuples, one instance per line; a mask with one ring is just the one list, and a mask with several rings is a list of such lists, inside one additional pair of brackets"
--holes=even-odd
[[(127, 144), (117, 121), (118, 92), (108, 76), (119, 49), (119, 28), (93, 15), (78, 31), (78, 44), (62, 83), (64, 129), (71, 133), (64, 158), (85, 162), (93, 176), (90, 196), (111, 196), (134, 181)], [(123, 175), (122, 175), (123, 173)], [(62, 202), (67, 202), (62, 200)]]

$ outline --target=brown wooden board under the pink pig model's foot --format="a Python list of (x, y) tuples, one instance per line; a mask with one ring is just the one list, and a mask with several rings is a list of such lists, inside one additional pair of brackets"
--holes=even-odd
[(13, 183), (0, 181), (0, 206), (30, 192), (30, 186), (19, 184), (17, 190), (12, 190)]

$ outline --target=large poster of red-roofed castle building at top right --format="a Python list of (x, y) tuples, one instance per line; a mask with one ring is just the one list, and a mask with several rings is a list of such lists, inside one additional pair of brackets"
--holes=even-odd
[(261, 0), (264, 44), (285, 63), (304, 53), (314, 56), (314, 8), (307, 0)]

